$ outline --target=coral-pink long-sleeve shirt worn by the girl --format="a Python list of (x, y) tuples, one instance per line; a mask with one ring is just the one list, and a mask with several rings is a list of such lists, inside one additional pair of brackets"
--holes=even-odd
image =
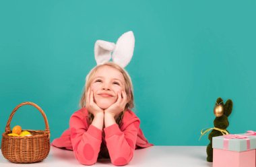
[(53, 140), (52, 145), (73, 150), (81, 164), (92, 165), (104, 157), (116, 166), (123, 166), (133, 158), (134, 149), (152, 145), (144, 137), (139, 123), (134, 112), (127, 110), (120, 126), (110, 125), (102, 131), (89, 124), (88, 110), (82, 108), (72, 114), (69, 129)]

